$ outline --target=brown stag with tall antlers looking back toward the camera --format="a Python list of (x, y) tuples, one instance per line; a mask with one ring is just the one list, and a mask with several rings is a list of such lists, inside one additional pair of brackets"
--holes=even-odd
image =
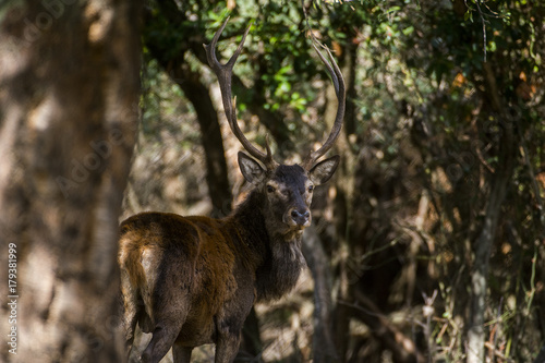
[(192, 350), (205, 343), (215, 343), (215, 362), (232, 362), (254, 303), (277, 300), (296, 285), (306, 266), (301, 244), (312, 221), (313, 190), (327, 182), (339, 165), (339, 156), (318, 161), (338, 138), (344, 114), (344, 81), (329, 49), (323, 46), (330, 63), (313, 38), (338, 100), (331, 132), (301, 165), (279, 164), (268, 138), (263, 152), (238, 124), (231, 76), (251, 25), (230, 60), (221, 64), (216, 47), (228, 21), (204, 47), (230, 129), (250, 154), (239, 152), (238, 162), (251, 191), (225, 218), (148, 211), (121, 222), (118, 262), (128, 359), (137, 324), (153, 335), (142, 362), (157, 363), (170, 348), (174, 362), (190, 362)]

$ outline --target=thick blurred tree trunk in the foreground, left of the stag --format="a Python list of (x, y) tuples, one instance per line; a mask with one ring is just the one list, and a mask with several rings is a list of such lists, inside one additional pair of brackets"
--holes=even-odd
[(2, 7), (2, 361), (122, 360), (117, 235), (138, 120), (140, 8)]

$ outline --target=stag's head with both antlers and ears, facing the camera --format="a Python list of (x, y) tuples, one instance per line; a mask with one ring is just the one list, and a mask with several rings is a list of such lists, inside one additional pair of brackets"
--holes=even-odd
[(204, 47), (208, 63), (218, 76), (223, 108), (231, 131), (252, 156), (239, 152), (240, 170), (244, 179), (265, 195), (262, 211), (267, 216), (269, 226), (272, 225), (274, 229), (282, 234), (291, 231), (300, 231), (311, 225), (310, 207), (314, 186), (328, 181), (339, 164), (339, 156), (334, 156), (322, 161), (318, 161), (318, 159), (334, 146), (342, 126), (346, 101), (344, 80), (329, 49), (325, 48), (331, 63), (318, 51), (313, 37), (313, 47), (327, 68), (335, 86), (338, 99), (337, 116), (332, 130), (324, 145), (303, 158), (301, 165), (288, 166), (278, 164), (272, 159), (268, 140), (266, 138), (266, 152), (264, 153), (249, 142), (237, 122), (237, 98), (234, 98), (233, 102), (231, 96), (231, 76), (234, 63), (242, 51), (250, 32), (250, 26), (244, 32), (242, 41), (231, 59), (226, 64), (221, 64), (216, 57), (216, 45), (229, 19), (216, 32), (211, 43), (204, 45)]

